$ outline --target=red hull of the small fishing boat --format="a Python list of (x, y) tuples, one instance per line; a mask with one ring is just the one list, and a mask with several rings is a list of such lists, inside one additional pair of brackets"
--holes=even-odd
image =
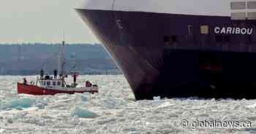
[(90, 92), (94, 94), (94, 92), (98, 92), (97, 90), (85, 90), (85, 91), (63, 91), (63, 90), (50, 90), (47, 88), (37, 87), (35, 85), (29, 84), (17, 84), (18, 93), (19, 94), (29, 94), (29, 95), (56, 95), (58, 93), (67, 93), (67, 94), (74, 94), (74, 93), (83, 93), (83, 92)]

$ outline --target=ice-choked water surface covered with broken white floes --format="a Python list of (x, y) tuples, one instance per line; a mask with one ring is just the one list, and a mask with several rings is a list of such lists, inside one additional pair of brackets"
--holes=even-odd
[[(0, 134), (256, 133), (256, 101), (156, 97), (133, 102), (127, 99), (134, 97), (124, 76), (81, 76), (80, 82), (90, 79), (99, 84), (95, 95), (18, 95), (16, 82), (21, 79), (0, 76)], [(215, 120), (251, 126), (211, 126)], [(206, 128), (197, 124), (201, 121)]]

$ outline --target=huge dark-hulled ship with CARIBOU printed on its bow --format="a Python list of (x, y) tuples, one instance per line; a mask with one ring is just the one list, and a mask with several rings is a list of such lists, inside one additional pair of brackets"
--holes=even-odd
[(255, 0), (87, 0), (75, 10), (137, 100), (256, 98)]

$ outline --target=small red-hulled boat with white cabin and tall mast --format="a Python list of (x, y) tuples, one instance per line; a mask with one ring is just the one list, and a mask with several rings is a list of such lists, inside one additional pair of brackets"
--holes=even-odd
[(71, 72), (69, 74), (73, 77), (72, 84), (67, 84), (65, 78), (67, 74), (64, 73), (64, 45), (62, 42), (61, 50), (59, 52), (59, 76), (57, 76), (57, 70), (54, 70), (54, 75), (45, 75), (43, 69), (40, 71), (40, 78), (37, 76), (36, 82), (27, 82), (26, 78), (23, 78), (23, 82), (18, 82), (17, 88), (19, 94), (29, 94), (29, 95), (56, 95), (58, 93), (83, 93), (89, 92), (94, 94), (98, 91), (97, 84), (91, 84), (91, 82), (86, 81), (85, 87), (78, 85), (77, 77), (78, 72)]

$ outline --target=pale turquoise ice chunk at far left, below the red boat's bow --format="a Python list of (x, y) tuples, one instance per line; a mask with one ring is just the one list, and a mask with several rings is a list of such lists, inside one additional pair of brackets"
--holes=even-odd
[(1, 109), (20, 109), (20, 108), (29, 108), (34, 105), (36, 100), (31, 98), (18, 98), (13, 101), (7, 101), (1, 106)]

